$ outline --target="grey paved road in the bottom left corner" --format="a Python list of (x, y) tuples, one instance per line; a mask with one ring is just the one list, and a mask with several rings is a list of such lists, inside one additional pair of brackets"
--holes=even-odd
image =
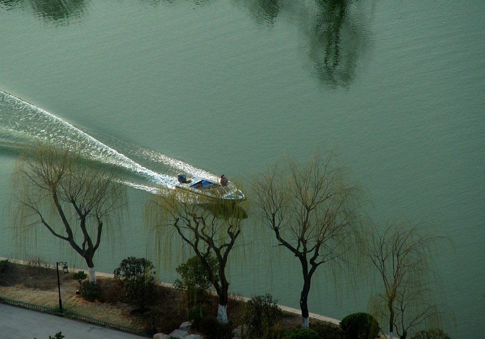
[(141, 339), (146, 337), (0, 303), (0, 339)]

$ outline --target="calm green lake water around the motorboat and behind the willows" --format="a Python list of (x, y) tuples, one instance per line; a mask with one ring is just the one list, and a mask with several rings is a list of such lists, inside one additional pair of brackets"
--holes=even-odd
[[(178, 171), (245, 183), (283, 153), (335, 149), (374, 218), (438, 220), (455, 247), (436, 253), (437, 294), (457, 321), (447, 330), (485, 333), (484, 1), (0, 0), (0, 30), (1, 205), (19, 149), (39, 136), (131, 173), (123, 240), (103, 244), (98, 270), (153, 257), (147, 191)], [(43, 232), (20, 250), (1, 213), (0, 256), (82, 266)], [(253, 223), (231, 292), (297, 308), (297, 262)], [(180, 262), (162, 260), (160, 278)], [(331, 281), (313, 283), (311, 312), (341, 319), (376, 288)]]

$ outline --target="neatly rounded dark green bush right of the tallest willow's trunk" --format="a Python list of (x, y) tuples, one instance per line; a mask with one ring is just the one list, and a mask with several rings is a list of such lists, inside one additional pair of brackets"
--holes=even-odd
[(379, 324), (369, 313), (351, 313), (342, 319), (340, 327), (349, 339), (374, 339), (379, 337)]

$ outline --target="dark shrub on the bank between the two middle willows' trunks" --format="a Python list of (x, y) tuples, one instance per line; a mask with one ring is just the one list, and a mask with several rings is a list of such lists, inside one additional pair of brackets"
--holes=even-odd
[(281, 309), (276, 302), (270, 294), (264, 294), (253, 296), (244, 304), (242, 320), (252, 334), (264, 336), (281, 319)]

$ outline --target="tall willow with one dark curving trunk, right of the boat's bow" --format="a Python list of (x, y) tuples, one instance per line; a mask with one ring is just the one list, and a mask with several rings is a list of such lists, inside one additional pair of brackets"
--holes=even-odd
[(289, 158), (254, 180), (263, 222), (301, 264), (302, 327), (308, 327), (308, 293), (317, 268), (335, 272), (360, 253), (362, 190), (348, 170), (333, 166), (333, 158), (318, 152), (305, 163)]

